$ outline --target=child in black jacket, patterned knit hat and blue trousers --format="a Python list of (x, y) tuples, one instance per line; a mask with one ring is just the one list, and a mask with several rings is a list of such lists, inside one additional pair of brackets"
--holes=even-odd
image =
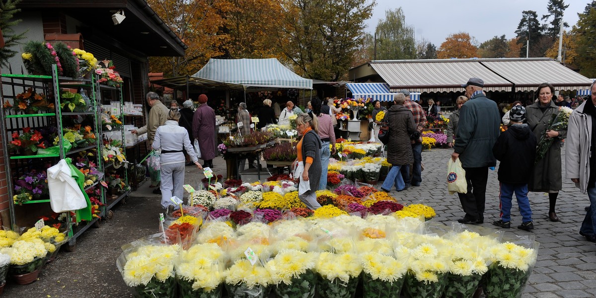
[(493, 155), (501, 162), (498, 172), (501, 219), (492, 224), (501, 228), (511, 227), (511, 201), (515, 193), (522, 214), (522, 225), (517, 228), (530, 230), (534, 228), (534, 224), (527, 198), (527, 182), (536, 157), (536, 136), (527, 124), (523, 124), (526, 109), (522, 105), (511, 108), (509, 116), (510, 128), (499, 136), (492, 148)]

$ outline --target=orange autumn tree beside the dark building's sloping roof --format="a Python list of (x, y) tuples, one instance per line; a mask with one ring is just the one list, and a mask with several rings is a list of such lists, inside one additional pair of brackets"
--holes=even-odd
[(150, 57), (151, 72), (164, 76), (197, 72), (212, 57), (224, 54), (229, 36), (222, 34), (228, 0), (147, 0), (164, 23), (188, 46), (184, 57)]

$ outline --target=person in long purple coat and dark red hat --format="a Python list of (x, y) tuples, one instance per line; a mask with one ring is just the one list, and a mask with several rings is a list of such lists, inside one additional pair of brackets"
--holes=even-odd
[(213, 167), (215, 158), (215, 111), (207, 105), (207, 95), (198, 96), (198, 108), (194, 111), (193, 135), (201, 150), (203, 167)]

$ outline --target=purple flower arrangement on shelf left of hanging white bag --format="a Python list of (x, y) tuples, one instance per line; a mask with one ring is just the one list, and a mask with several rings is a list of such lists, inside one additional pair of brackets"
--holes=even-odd
[(13, 201), (18, 205), (46, 197), (49, 194), (48, 176), (43, 170), (41, 172), (31, 170), (29, 173), (24, 173), (14, 181), (14, 191)]

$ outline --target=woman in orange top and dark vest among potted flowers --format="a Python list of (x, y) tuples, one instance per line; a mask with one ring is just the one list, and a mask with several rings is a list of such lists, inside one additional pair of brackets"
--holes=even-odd
[(302, 138), (296, 145), (298, 165), (294, 170), (299, 180), (298, 197), (309, 209), (321, 207), (316, 201), (316, 193), (321, 179), (321, 138), (318, 135), (318, 121), (311, 113), (300, 114), (296, 118), (296, 129)]

